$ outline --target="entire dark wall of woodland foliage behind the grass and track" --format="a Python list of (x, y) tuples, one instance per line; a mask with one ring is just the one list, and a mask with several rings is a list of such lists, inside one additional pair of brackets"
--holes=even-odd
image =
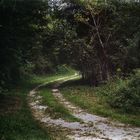
[(0, 86), (69, 64), (91, 85), (140, 66), (140, 3), (63, 0), (0, 3)]

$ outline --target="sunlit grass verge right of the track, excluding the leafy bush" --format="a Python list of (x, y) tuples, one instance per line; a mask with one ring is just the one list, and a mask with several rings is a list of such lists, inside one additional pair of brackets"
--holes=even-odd
[(112, 108), (107, 102), (107, 95), (121, 86), (125, 86), (126, 82), (128, 81), (116, 80), (99, 87), (90, 87), (79, 83), (79, 81), (69, 81), (62, 85), (61, 93), (70, 102), (89, 113), (140, 126), (140, 111), (126, 113), (121, 109)]

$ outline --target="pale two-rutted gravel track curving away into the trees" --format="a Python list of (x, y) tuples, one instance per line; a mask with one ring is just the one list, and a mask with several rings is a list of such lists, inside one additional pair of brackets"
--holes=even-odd
[[(53, 135), (54, 139), (74, 139), (74, 140), (139, 140), (140, 128), (130, 127), (124, 124), (113, 122), (107, 118), (92, 115), (74, 106), (67, 101), (60, 93), (58, 87), (65, 81), (75, 79), (77, 75), (63, 77), (55, 81), (50, 81), (37, 86), (30, 91), (28, 103), (34, 118), (43, 128)], [(41, 105), (42, 97), (38, 95), (39, 88), (49, 83), (55, 83), (52, 89), (53, 96), (64, 105), (73, 116), (82, 122), (67, 122), (62, 118), (53, 119), (45, 113), (48, 106)], [(60, 137), (61, 136), (61, 137)]]

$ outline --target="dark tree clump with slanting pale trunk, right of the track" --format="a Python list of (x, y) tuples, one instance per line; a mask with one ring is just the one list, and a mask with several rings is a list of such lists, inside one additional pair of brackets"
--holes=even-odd
[(118, 70), (128, 73), (139, 67), (139, 12), (139, 3), (119, 1), (70, 1), (62, 10), (75, 31), (65, 48), (84, 79), (96, 85)]

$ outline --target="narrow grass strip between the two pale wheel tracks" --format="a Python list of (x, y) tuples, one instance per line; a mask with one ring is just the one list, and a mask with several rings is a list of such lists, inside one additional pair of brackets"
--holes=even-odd
[(49, 106), (46, 113), (49, 113), (51, 117), (55, 119), (62, 118), (69, 122), (80, 121), (80, 119), (71, 115), (71, 113), (59, 103), (59, 101), (53, 96), (49, 87), (40, 89), (40, 95), (43, 97), (42, 103)]

